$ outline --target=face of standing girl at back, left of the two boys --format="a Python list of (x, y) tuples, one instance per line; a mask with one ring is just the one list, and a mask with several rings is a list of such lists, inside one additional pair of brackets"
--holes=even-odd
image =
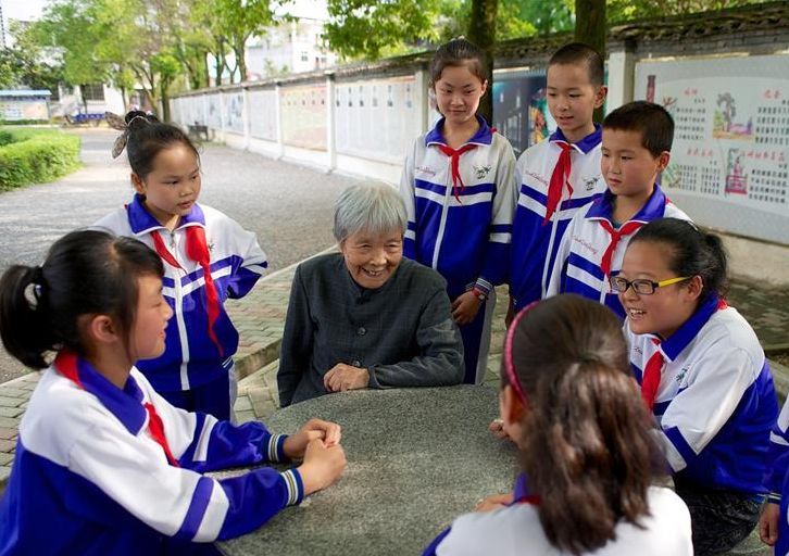
[(467, 64), (448, 65), (434, 85), (438, 111), (447, 118), (447, 124), (466, 124), (474, 118), (487, 88), (488, 81), (472, 73)]

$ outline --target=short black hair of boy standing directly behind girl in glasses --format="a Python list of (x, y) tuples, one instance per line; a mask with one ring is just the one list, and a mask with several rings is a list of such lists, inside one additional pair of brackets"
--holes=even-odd
[(613, 111), (603, 119), (603, 129), (638, 131), (641, 147), (655, 157), (663, 151), (671, 152), (674, 142), (674, 118), (660, 104), (646, 100), (628, 102)]

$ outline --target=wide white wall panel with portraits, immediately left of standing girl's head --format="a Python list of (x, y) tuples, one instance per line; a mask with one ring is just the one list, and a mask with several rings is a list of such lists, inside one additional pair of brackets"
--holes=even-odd
[(422, 131), (413, 75), (337, 83), (335, 126), (337, 152), (402, 163)]

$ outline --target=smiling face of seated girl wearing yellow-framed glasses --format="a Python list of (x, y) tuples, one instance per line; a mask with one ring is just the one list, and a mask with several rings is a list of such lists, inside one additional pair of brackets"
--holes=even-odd
[[(655, 282), (676, 278), (669, 266), (673, 257), (668, 245), (652, 241), (636, 241), (627, 247), (619, 276)], [(619, 293), (630, 330), (637, 334), (656, 333), (669, 338), (696, 312), (701, 293), (701, 278), (655, 289), (651, 295), (640, 295), (628, 288)]]

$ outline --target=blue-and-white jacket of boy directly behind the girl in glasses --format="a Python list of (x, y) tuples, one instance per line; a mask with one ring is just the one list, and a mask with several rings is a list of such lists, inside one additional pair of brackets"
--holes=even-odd
[[(588, 205), (581, 207), (567, 225), (562, 244), (556, 252), (555, 263), (547, 285), (546, 296), (559, 293), (577, 293), (585, 298), (606, 305), (616, 315), (624, 319), (625, 309), (619, 303), (616, 292), (611, 290), (609, 277), (616, 276), (622, 270), (622, 260), (630, 239), (638, 228), (656, 220), (671, 217), (690, 220), (690, 217), (672, 203), (663, 193), (660, 186), (641, 210), (629, 220), (622, 223), (618, 230), (622, 238), (616, 243), (606, 227), (613, 228), (614, 200), (616, 195), (606, 190)], [(629, 231), (629, 233), (626, 233)], [(611, 245), (611, 268), (606, 275), (603, 271), (603, 255)]]

